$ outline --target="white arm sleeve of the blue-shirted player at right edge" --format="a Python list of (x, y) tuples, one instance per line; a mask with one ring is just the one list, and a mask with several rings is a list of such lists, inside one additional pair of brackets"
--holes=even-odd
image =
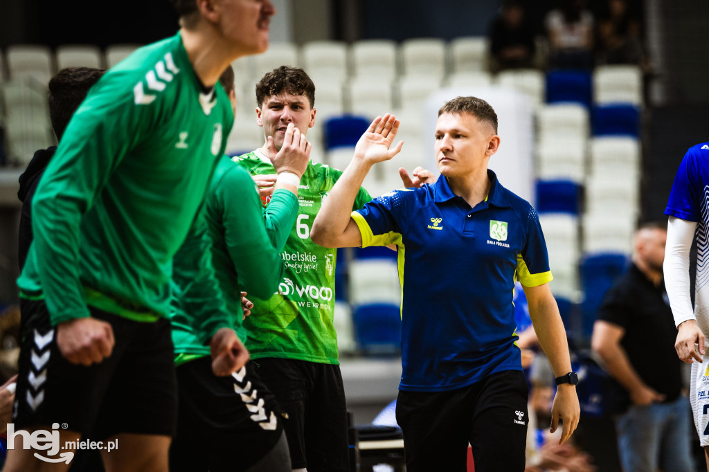
[(697, 223), (669, 217), (664, 259), (664, 283), (674, 324), (694, 320), (689, 293), (689, 252)]

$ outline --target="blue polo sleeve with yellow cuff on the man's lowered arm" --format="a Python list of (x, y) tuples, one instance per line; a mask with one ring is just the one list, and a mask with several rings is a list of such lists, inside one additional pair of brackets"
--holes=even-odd
[(539, 216), (532, 206), (527, 210), (527, 235), (517, 254), (517, 279), (526, 287), (536, 287), (552, 281), (547, 243)]

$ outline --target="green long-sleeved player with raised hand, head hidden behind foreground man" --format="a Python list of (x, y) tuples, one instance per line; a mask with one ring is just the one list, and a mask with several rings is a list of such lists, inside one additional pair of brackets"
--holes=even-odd
[[(220, 82), (235, 103), (231, 68)], [(272, 150), (278, 178), (265, 211), (250, 174), (223, 156), (203, 207), (207, 244), (188, 237), (175, 254), (171, 321), (179, 415), (170, 449), (171, 472), (291, 471), (281, 415), (254, 369), (244, 366), (226, 377), (211, 369), (209, 347), (201, 342), (204, 336), (192, 315), (209, 300), (194, 290), (194, 280), (201, 277), (191, 261), (211, 257), (233, 328), (246, 339), (241, 293), (268, 298), (278, 288), (284, 271), (279, 253), (296, 220), (298, 180), (310, 150), (305, 135), (290, 125), (279, 152)], [(201, 270), (206, 266), (202, 264)]]

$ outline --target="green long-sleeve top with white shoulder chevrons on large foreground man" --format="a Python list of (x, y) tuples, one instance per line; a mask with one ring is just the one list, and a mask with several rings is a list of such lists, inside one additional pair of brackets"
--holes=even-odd
[(22, 296), (45, 298), (53, 324), (89, 316), (87, 305), (166, 316), (172, 257), (200, 225), (232, 124), (228, 97), (220, 84), (202, 92), (179, 33), (106, 72), (38, 186)]

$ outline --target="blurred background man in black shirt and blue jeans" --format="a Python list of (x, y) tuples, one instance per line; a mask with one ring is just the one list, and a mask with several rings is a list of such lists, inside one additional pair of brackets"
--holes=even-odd
[(666, 224), (637, 230), (630, 269), (606, 294), (591, 337), (618, 390), (627, 393), (627, 408), (615, 417), (625, 472), (695, 470), (689, 401), (681, 394), (676, 328), (662, 279), (666, 240)]

